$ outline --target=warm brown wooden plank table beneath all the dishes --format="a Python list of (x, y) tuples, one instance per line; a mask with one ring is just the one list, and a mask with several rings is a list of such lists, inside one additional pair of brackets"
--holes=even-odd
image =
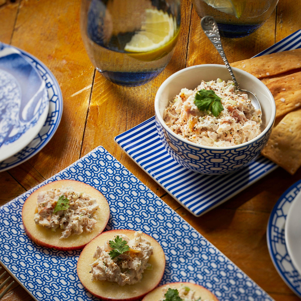
[[(6, 3), (5, 3), (6, 2)], [(117, 86), (95, 72), (79, 33), (79, 0), (0, 0), (0, 41), (39, 58), (57, 78), (63, 98), (61, 124), (36, 156), (0, 173), (0, 205), (61, 171), (98, 145), (162, 198), (275, 300), (297, 296), (276, 272), (266, 244), (269, 214), (280, 195), (301, 178), (278, 168), (199, 218), (169, 196), (114, 143), (113, 138), (154, 115), (154, 97), (172, 73), (196, 64), (222, 64), (200, 28), (191, 0), (182, 0), (182, 32), (166, 69), (135, 88)], [(280, 0), (265, 24), (245, 38), (222, 39), (230, 62), (250, 58), (301, 29), (301, 0)], [(18, 284), (2, 300), (33, 300)]]

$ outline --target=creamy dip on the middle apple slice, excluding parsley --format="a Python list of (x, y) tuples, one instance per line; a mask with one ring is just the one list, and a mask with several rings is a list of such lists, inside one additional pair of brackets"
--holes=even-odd
[[(136, 231), (131, 240), (124, 234), (118, 234), (127, 241), (129, 251), (114, 259), (109, 255), (112, 250), (109, 241), (104, 246), (98, 246), (93, 256), (96, 260), (91, 264), (93, 279), (117, 282), (119, 285), (139, 282), (144, 270), (150, 266), (147, 261), (153, 253), (151, 243), (142, 234), (141, 231)], [(114, 236), (116, 237), (117, 235)]]

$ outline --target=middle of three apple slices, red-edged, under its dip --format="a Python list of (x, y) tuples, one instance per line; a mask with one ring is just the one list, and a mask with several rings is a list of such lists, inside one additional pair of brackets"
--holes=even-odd
[(115, 234), (125, 234), (130, 239), (134, 238), (133, 230), (110, 230), (101, 233), (91, 240), (79, 256), (77, 262), (77, 275), (83, 286), (94, 296), (102, 300), (110, 301), (130, 301), (143, 298), (145, 294), (153, 290), (161, 281), (165, 270), (165, 255), (160, 244), (153, 237), (144, 234), (151, 246), (154, 247), (153, 254), (148, 263), (152, 269), (145, 270), (140, 282), (136, 284), (125, 284), (120, 286), (116, 282), (92, 280), (91, 266), (95, 261), (93, 255), (97, 246), (103, 246), (107, 240), (112, 240)]

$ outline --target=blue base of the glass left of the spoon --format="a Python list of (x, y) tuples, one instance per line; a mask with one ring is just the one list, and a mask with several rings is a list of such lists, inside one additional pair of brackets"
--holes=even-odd
[(127, 87), (135, 87), (144, 85), (147, 82), (150, 82), (156, 76), (158, 76), (164, 68), (160, 68), (155, 71), (149, 72), (113, 72), (113, 71), (101, 71), (96, 68), (106, 79), (111, 82)]

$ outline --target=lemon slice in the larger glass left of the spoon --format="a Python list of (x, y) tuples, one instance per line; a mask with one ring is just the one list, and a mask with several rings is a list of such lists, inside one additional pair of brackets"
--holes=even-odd
[(146, 9), (141, 30), (126, 43), (128, 55), (143, 61), (156, 60), (172, 50), (178, 39), (176, 22), (172, 16), (156, 9)]

